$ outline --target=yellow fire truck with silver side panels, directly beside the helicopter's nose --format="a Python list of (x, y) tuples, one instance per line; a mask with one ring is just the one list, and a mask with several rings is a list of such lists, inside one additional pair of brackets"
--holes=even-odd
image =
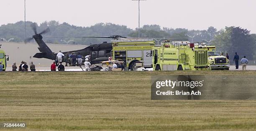
[(152, 47), (155, 42), (149, 39), (120, 39), (113, 41), (113, 60), (124, 62), (125, 69), (136, 70), (136, 62), (143, 67), (152, 67)]

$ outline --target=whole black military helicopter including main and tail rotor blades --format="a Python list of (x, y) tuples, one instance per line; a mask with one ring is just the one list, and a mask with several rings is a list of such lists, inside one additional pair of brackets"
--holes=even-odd
[[(31, 27), (32, 27), (35, 35), (33, 35), (31, 38), (26, 39), (25, 42), (29, 42), (30, 40), (34, 39), (36, 41), (36, 43), (38, 44), (38, 46), (39, 46), (38, 49), (40, 51), (40, 53), (36, 53), (33, 57), (55, 60), (57, 53), (54, 53), (51, 51), (51, 49), (43, 41), (43, 37), (42, 37), (43, 34), (50, 32), (49, 27), (46, 28), (45, 30), (43, 30), (41, 33), (37, 32), (36, 23), (31, 24)], [(76, 38), (76, 37), (74, 37), (74, 38)], [(80, 38), (80, 37), (77, 37), (77, 38)], [(126, 38), (126, 37), (122, 37), (120, 35), (113, 35), (113, 36), (83, 37), (83, 38), (119, 39), (119, 38)], [(66, 66), (67, 66), (69, 54), (71, 54), (72, 52), (77, 54), (79, 52), (82, 56), (91, 55), (91, 58), (90, 58), (91, 64), (97, 64), (99, 62), (108, 60), (109, 57), (111, 56), (111, 50), (112, 50), (112, 43), (103, 42), (101, 44), (91, 44), (90, 46), (88, 46), (84, 49), (62, 52), (65, 55), (63, 62), (66, 62)], [(71, 63), (69, 63), (69, 64), (71, 64)]]

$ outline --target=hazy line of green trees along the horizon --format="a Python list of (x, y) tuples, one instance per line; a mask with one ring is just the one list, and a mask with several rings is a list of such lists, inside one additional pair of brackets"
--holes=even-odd
[[(27, 38), (34, 35), (30, 25), (33, 22), (26, 22)], [(43, 22), (37, 26), (37, 31), (49, 27), (51, 32), (44, 36), (64, 36), (64, 37), (82, 37), (82, 36), (110, 36), (121, 35), (125, 37), (138, 37), (138, 28), (133, 30), (125, 25), (116, 25), (113, 23), (97, 23), (90, 27), (80, 27), (70, 25), (66, 22), (57, 21)], [(251, 34), (249, 30), (241, 27), (225, 27), (217, 30), (214, 27), (208, 27), (207, 30), (188, 30), (185, 28), (169, 28), (160, 25), (144, 25), (140, 28), (141, 37), (158, 37), (158, 38), (183, 38), (190, 42), (206, 42), (207, 44), (216, 45), (217, 50), (233, 55), (246, 55), (248, 59), (256, 58), (256, 34)], [(14, 42), (24, 41), (24, 22), (0, 26), (0, 38), (9, 40), (14, 38)], [(44, 37), (46, 43), (55, 44), (98, 44), (103, 41), (110, 42), (110, 39), (98, 38), (52, 38)]]

